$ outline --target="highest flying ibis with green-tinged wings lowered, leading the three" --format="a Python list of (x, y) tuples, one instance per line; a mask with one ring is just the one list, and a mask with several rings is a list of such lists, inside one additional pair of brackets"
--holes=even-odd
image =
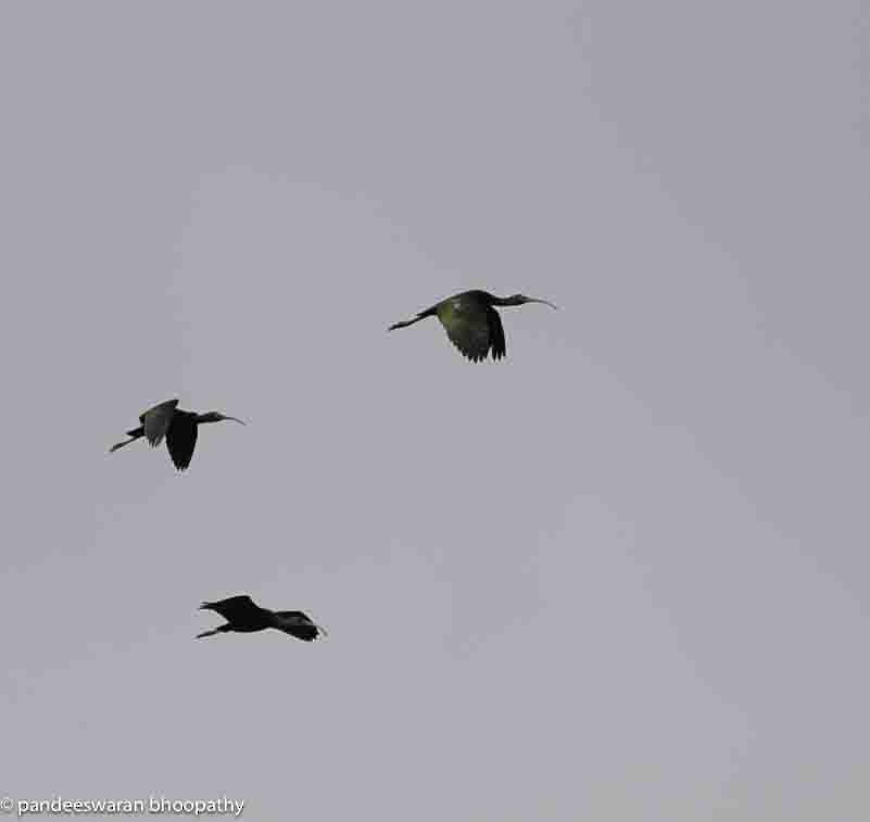
[(468, 359), (474, 363), (486, 359), (490, 351), (492, 351), (493, 359), (501, 359), (507, 347), (502, 318), (495, 311), (495, 306), (524, 305), (526, 303), (543, 303), (551, 308), (557, 307), (546, 300), (535, 300), (525, 294), (494, 296), (488, 291), (463, 291), (461, 294), (449, 296), (446, 300), (436, 303), (431, 308), (420, 312), (414, 319), (396, 323), (387, 330), (393, 331), (396, 328), (413, 326), (426, 317), (438, 317), (451, 342)]

